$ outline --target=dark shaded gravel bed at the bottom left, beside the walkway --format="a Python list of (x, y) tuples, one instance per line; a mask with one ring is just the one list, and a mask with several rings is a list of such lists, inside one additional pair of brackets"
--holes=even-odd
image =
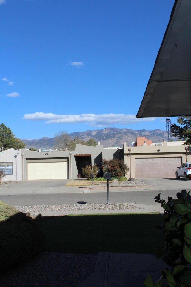
[(1, 287), (75, 287), (95, 268), (97, 254), (43, 252), (1, 275)]

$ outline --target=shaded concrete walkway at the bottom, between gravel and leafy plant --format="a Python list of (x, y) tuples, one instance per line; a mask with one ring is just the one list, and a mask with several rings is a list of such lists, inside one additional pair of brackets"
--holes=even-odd
[(94, 272), (77, 287), (143, 287), (148, 274), (155, 283), (167, 267), (153, 254), (100, 252)]

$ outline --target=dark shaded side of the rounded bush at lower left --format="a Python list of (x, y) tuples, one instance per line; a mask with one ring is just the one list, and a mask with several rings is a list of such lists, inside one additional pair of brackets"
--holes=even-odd
[(42, 251), (44, 237), (35, 220), (17, 213), (0, 222), (0, 272), (27, 262)]

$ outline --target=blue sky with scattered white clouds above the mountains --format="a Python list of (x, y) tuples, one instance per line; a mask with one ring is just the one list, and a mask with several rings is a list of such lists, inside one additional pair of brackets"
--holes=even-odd
[(165, 118), (135, 115), (173, 4), (0, 0), (0, 122), (31, 139), (105, 127), (165, 130)]

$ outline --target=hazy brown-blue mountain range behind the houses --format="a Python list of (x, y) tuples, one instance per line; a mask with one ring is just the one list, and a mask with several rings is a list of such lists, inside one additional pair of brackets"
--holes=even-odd
[[(94, 131), (86, 132), (73, 132), (70, 134), (71, 138), (81, 138), (83, 141), (88, 141), (93, 138), (96, 142), (100, 141), (101, 145), (104, 147), (120, 146), (123, 147), (123, 143), (126, 142), (127, 146), (132, 146), (132, 142), (136, 141), (136, 137), (146, 137), (148, 140), (153, 141), (153, 143), (160, 143), (162, 141), (168, 141), (166, 131), (161, 129), (155, 129), (148, 131), (146, 129), (133, 130), (133, 129), (117, 129), (117, 128), (106, 128), (106, 129), (96, 129)], [(173, 141), (177, 138), (171, 137)], [(26, 148), (34, 149), (52, 149), (55, 145), (55, 138), (40, 138), (40, 139), (20, 139), (26, 144)]]

